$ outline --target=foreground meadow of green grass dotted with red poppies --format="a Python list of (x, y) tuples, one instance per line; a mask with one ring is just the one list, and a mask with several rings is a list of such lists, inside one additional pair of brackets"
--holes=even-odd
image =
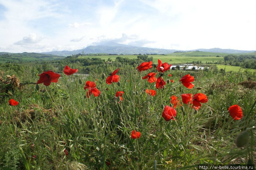
[(255, 163), (255, 75), (170, 67), (103, 65), (87, 77), (77, 63), (63, 73), (0, 70), (0, 167)]

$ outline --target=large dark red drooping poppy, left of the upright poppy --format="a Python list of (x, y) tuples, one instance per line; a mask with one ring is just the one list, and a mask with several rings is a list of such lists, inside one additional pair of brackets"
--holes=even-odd
[(39, 76), (39, 80), (36, 82), (36, 84), (43, 83), (44, 85), (49, 86), (51, 82), (57, 83), (61, 75), (49, 70), (49, 71), (44, 71), (38, 76)]

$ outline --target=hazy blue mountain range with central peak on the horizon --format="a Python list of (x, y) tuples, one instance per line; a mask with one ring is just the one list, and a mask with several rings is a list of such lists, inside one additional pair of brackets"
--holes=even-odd
[[(196, 49), (203, 52), (215, 52), (215, 53), (229, 53), (229, 54), (238, 54), (238, 53), (250, 53), (255, 50), (246, 51), (246, 50), (232, 50), (232, 49)], [(79, 54), (84, 52), (85, 54), (97, 54), (97, 53), (108, 53), (108, 54), (170, 54), (175, 51), (196, 51), (196, 50), (168, 50), (168, 49), (158, 49), (158, 48), (147, 48), (147, 47), (136, 47), (125, 44), (118, 44), (115, 42), (108, 42), (101, 45), (90, 45), (84, 49), (74, 50), (74, 51), (51, 51), (44, 52), (42, 54), (52, 54), (57, 56), (70, 56), (72, 54)]]

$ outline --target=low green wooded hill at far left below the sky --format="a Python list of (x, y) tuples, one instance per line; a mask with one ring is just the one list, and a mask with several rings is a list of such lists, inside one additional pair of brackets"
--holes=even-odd
[[(1, 55), (2, 54), (2, 55)], [(63, 56), (55, 56), (51, 54), (41, 53), (6, 53), (0, 52), (0, 63), (4, 62), (20, 62), (20, 61), (46, 61), (65, 58)]]

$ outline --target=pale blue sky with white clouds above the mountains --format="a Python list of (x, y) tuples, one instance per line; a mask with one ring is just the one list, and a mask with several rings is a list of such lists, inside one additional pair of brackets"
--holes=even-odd
[(256, 0), (0, 0), (0, 52), (256, 50)]

